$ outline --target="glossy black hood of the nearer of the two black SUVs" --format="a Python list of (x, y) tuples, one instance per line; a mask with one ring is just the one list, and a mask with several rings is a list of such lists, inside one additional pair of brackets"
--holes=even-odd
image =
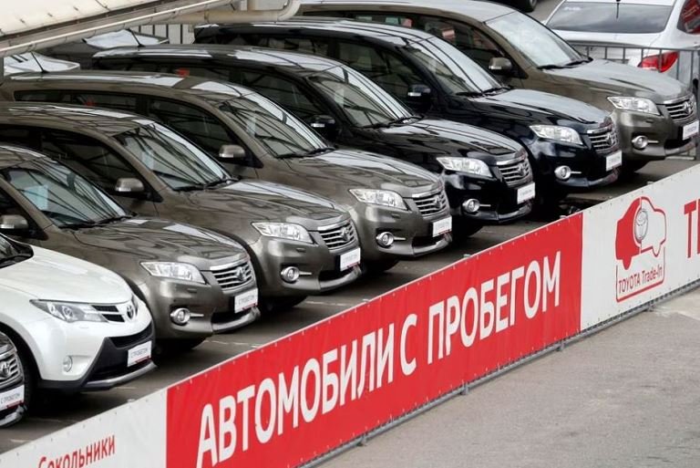
[(506, 161), (522, 148), (520, 143), (494, 131), (451, 120), (423, 119), (369, 131), (404, 152), (433, 158), (467, 156), (487, 162)]

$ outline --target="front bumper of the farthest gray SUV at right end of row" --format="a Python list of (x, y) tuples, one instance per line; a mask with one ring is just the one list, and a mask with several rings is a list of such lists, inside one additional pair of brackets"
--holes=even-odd
[[(664, 160), (693, 151), (697, 146), (697, 136), (683, 139), (683, 127), (697, 120), (695, 112), (683, 120), (673, 120), (664, 105), (657, 104), (657, 107), (662, 113), (660, 116), (622, 110), (613, 112), (625, 161)], [(641, 135), (649, 139), (649, 145), (638, 150), (634, 148), (632, 140)]]

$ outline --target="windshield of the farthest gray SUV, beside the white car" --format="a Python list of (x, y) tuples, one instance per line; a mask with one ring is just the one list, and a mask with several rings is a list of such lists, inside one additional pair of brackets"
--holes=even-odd
[(499, 16), (487, 22), (487, 25), (536, 67), (567, 65), (583, 58), (573, 47), (530, 16), (513, 12)]

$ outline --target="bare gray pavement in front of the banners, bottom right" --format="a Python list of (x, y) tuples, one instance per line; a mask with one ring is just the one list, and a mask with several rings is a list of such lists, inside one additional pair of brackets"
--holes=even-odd
[(427, 411), (328, 468), (696, 467), (700, 289)]

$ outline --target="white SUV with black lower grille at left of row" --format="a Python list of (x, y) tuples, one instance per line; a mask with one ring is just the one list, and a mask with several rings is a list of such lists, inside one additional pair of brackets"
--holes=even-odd
[(108, 390), (155, 369), (149, 309), (116, 274), (0, 236), (0, 331), (32, 390)]

